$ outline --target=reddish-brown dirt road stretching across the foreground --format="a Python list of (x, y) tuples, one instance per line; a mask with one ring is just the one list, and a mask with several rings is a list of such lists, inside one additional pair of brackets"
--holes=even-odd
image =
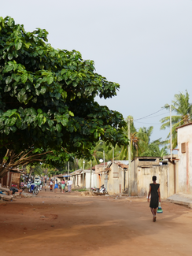
[(142, 199), (41, 191), (0, 203), (0, 255), (191, 255), (192, 210), (162, 202), (152, 222)]

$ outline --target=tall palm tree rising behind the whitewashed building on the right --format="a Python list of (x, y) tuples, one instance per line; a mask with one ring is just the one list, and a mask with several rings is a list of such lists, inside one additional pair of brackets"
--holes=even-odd
[[(175, 100), (172, 101), (172, 111), (176, 115), (172, 115), (172, 148), (177, 146), (177, 134), (176, 128), (183, 124), (189, 124), (192, 122), (192, 105), (190, 104), (190, 96), (186, 91), (186, 95), (179, 93), (174, 95)], [(169, 105), (165, 104), (164, 108), (169, 109)], [(170, 117), (164, 117), (161, 119), (161, 130), (170, 127)], [(168, 134), (170, 139), (170, 133)]]

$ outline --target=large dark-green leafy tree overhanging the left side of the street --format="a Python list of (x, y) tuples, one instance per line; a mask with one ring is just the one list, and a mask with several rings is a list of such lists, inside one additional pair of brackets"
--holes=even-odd
[(99, 139), (127, 143), (122, 115), (94, 101), (120, 87), (96, 73), (94, 61), (55, 50), (46, 30), (25, 32), (11, 17), (0, 17), (0, 31), (0, 177), (26, 152), (38, 161), (63, 147), (83, 158)]

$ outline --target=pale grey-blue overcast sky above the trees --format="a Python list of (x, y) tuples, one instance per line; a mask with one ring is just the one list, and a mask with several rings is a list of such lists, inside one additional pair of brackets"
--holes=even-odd
[(28, 32), (44, 28), (54, 48), (93, 60), (96, 72), (120, 83), (117, 96), (99, 104), (133, 116), (136, 128), (153, 125), (152, 140), (168, 134), (160, 130), (168, 110), (136, 120), (179, 92), (192, 97), (191, 0), (9, 0), (0, 16)]

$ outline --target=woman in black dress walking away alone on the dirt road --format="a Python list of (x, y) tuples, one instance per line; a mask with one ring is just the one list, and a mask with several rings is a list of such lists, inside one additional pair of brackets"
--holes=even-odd
[[(157, 176), (153, 176), (152, 180), (153, 180), (153, 183), (150, 184), (148, 202), (150, 202), (150, 210), (151, 210), (151, 213), (153, 214), (153, 222), (155, 222), (157, 207), (159, 205), (159, 202), (161, 202), (161, 195), (160, 195), (160, 184), (156, 183)], [(151, 195), (151, 198), (150, 198), (150, 195)]]

